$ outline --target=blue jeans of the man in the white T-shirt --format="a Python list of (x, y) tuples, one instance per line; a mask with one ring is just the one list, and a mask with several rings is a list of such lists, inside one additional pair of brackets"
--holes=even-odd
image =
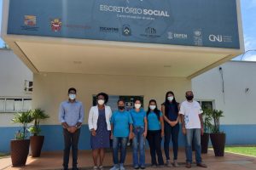
[(192, 163), (192, 144), (195, 144), (195, 161), (201, 163), (201, 128), (186, 129), (186, 156), (187, 162)]

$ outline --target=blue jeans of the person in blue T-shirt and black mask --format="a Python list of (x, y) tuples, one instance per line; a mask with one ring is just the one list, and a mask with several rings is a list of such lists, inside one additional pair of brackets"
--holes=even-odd
[[(128, 138), (113, 137), (113, 164), (124, 164)], [(120, 159), (119, 159), (120, 148)]]

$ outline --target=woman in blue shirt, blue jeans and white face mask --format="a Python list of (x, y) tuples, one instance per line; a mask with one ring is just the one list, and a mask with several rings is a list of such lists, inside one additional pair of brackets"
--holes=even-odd
[[(136, 99), (134, 102), (134, 109), (130, 111), (131, 118), (133, 121), (133, 133), (134, 138), (132, 139), (133, 148), (133, 167), (135, 169), (145, 168), (145, 138), (147, 137), (148, 131), (148, 120), (146, 112), (142, 108), (142, 102)], [(139, 159), (138, 159), (139, 155)]]

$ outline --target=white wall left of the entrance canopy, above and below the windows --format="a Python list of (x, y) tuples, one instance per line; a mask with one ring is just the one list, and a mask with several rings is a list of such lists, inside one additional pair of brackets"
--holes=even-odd
[[(0, 97), (32, 97), (24, 92), (25, 80), (32, 81), (32, 71), (11, 50), (0, 49)], [(0, 127), (15, 126), (13, 113), (0, 113)]]

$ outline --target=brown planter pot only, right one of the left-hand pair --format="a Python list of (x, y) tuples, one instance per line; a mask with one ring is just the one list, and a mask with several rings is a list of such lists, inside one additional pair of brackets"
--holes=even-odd
[(31, 147), (32, 157), (40, 157), (43, 144), (44, 144), (44, 136), (30, 137), (30, 147)]

